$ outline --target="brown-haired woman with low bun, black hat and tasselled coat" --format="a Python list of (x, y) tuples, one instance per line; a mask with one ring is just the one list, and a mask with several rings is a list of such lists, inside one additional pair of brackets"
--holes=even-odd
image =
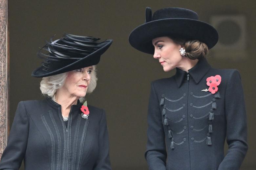
[(215, 28), (182, 8), (153, 16), (147, 8), (146, 23), (131, 32), (134, 48), (153, 54), (165, 72), (177, 70), (151, 83), (145, 152), (150, 170), (238, 170), (242, 164), (247, 127), (241, 78), (237, 70), (208, 64), (205, 56), (217, 41)]

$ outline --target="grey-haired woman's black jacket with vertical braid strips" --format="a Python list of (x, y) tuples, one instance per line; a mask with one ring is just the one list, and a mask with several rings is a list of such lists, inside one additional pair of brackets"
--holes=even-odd
[(52, 99), (19, 102), (0, 169), (18, 170), (24, 159), (25, 170), (111, 170), (105, 112), (88, 106), (84, 119), (81, 106), (66, 126)]

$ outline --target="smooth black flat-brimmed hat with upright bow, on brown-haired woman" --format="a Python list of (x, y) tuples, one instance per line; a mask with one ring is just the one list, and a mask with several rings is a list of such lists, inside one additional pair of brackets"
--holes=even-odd
[(198, 20), (198, 14), (189, 9), (164, 8), (152, 16), (151, 8), (146, 8), (145, 24), (135, 28), (130, 36), (130, 44), (139, 51), (154, 54), (152, 40), (157, 37), (172, 37), (185, 40), (199, 40), (208, 48), (218, 42), (217, 30)]

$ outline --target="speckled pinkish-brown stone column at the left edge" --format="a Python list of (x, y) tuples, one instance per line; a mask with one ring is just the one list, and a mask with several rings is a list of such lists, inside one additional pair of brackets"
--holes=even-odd
[(0, 0), (0, 157), (6, 147), (9, 130), (9, 34), (8, 0)]

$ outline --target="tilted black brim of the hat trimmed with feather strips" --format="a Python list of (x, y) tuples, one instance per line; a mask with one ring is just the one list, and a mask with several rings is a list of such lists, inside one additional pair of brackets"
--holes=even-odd
[(78, 59), (74, 62), (74, 59), (66, 59), (66, 61), (52, 61), (51, 64), (54, 65), (54, 70), (43, 70), (45, 67), (41, 66), (37, 69), (35, 69), (31, 76), (33, 77), (47, 77), (47, 76), (53, 76), (65, 72), (69, 72), (72, 70), (89, 67), (92, 65), (96, 65), (99, 63), (100, 56), (110, 47), (113, 40), (106, 40), (106, 44), (102, 46), (100, 49), (94, 51), (93, 53), (87, 55), (84, 58)]

